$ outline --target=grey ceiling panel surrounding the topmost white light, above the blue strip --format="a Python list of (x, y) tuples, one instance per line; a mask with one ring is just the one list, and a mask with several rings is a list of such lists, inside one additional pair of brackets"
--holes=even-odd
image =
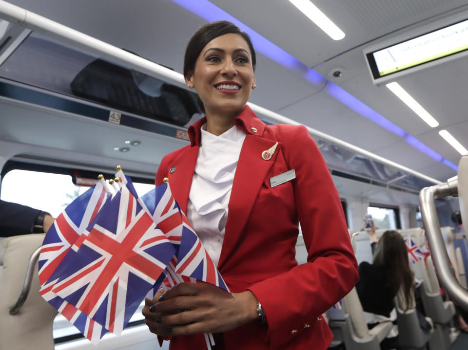
[(335, 41), (287, 0), (211, 2), (309, 67), (411, 23), (466, 5), (465, 0), (314, 0), (345, 32), (345, 38)]

